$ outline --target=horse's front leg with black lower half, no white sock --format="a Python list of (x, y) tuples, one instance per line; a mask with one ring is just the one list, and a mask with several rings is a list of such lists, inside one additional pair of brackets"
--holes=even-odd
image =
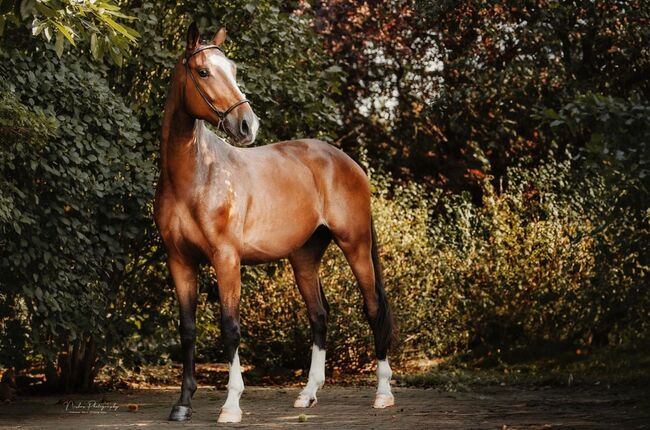
[(172, 407), (170, 421), (187, 421), (192, 416), (192, 395), (196, 391), (194, 378), (194, 346), (196, 343), (196, 267), (176, 259), (169, 260), (169, 270), (174, 279), (178, 298), (183, 354), (183, 382), (181, 397)]

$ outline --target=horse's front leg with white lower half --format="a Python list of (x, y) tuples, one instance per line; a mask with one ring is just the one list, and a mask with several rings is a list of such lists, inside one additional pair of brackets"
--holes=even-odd
[(241, 422), (239, 398), (244, 391), (244, 380), (239, 363), (239, 301), (241, 295), (240, 260), (235, 252), (221, 251), (214, 259), (219, 281), (221, 303), (221, 338), (228, 357), (228, 397), (221, 408), (218, 422)]

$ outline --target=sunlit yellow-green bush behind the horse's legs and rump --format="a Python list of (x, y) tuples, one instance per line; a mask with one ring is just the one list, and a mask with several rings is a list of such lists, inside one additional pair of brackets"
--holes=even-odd
[[(647, 238), (647, 218), (644, 230), (625, 220), (603, 229), (591, 202), (612, 198), (604, 179), (573, 175), (569, 161), (511, 169), (502, 186), (483, 182), (480, 206), (468, 194), (430, 194), (375, 178), (373, 213), (401, 339), (393, 359), (647, 338), (648, 267), (616, 248), (620, 237)], [(370, 330), (336, 246), (321, 278), (331, 305), (328, 365), (367, 369), (374, 362)], [(309, 324), (288, 264), (247, 268), (243, 279), (244, 359), (307, 366)], [(216, 345), (217, 307), (202, 307), (211, 317), (200, 331)]]

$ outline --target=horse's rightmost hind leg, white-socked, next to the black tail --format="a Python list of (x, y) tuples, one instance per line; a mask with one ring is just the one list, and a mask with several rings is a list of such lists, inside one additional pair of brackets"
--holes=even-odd
[(336, 241), (357, 279), (364, 311), (374, 335), (378, 383), (373, 407), (381, 409), (395, 404), (390, 388), (392, 371), (388, 364), (388, 351), (395, 338), (395, 324), (384, 291), (375, 228), (372, 223), (369, 227), (354, 235), (343, 236), (345, 240), (337, 237)]

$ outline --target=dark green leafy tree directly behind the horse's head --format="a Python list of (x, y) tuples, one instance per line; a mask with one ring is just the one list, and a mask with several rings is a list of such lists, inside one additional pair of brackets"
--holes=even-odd
[(191, 21), (211, 39), (220, 27), (229, 38), (225, 52), (237, 63), (238, 81), (261, 121), (258, 142), (333, 136), (337, 113), (331, 95), (341, 74), (324, 55), (307, 16), (284, 11), (283, 2), (232, 0), (205, 2), (134, 2), (141, 42), (121, 70), (117, 88), (132, 100), (144, 136), (158, 147), (170, 73), (185, 49)]

